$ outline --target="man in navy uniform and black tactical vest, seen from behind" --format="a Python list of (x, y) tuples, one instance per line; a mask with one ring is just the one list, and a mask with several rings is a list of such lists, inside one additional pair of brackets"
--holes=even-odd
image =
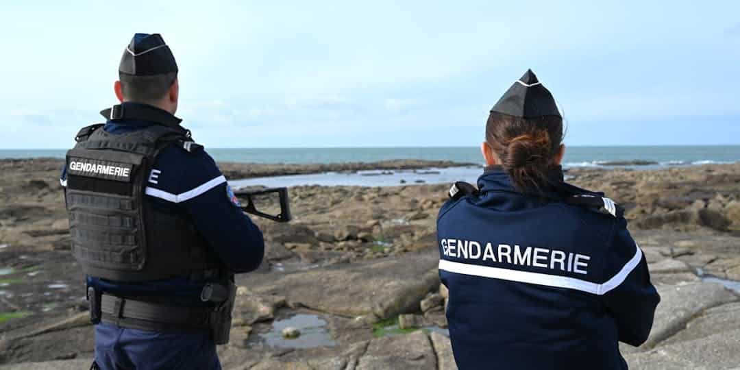
[(221, 369), (233, 275), (260, 266), (262, 233), (175, 117), (163, 38), (135, 34), (118, 72), (121, 104), (78, 133), (61, 175), (96, 324), (92, 369)]

